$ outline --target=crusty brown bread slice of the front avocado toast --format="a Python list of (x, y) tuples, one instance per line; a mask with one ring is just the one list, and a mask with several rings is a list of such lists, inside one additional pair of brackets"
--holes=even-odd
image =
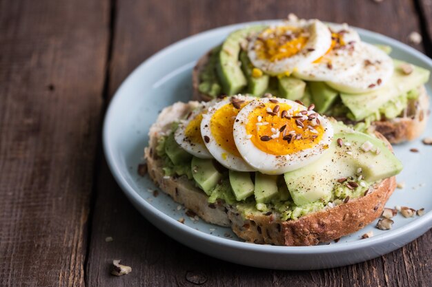
[(188, 114), (196, 105), (197, 102), (175, 103), (161, 111), (157, 122), (150, 128), (149, 146), (144, 151), (148, 173), (155, 184), (175, 202), (184, 204), (206, 222), (230, 226), (247, 242), (305, 246), (335, 240), (360, 230), (379, 217), (384, 204), (395, 190), (395, 177), (387, 178), (375, 184), (360, 198), (288, 221), (267, 213), (244, 218), (233, 205), (223, 201), (209, 204), (208, 196), (186, 176), (164, 176), (164, 161), (155, 152), (157, 139), (170, 130), (170, 124)]

